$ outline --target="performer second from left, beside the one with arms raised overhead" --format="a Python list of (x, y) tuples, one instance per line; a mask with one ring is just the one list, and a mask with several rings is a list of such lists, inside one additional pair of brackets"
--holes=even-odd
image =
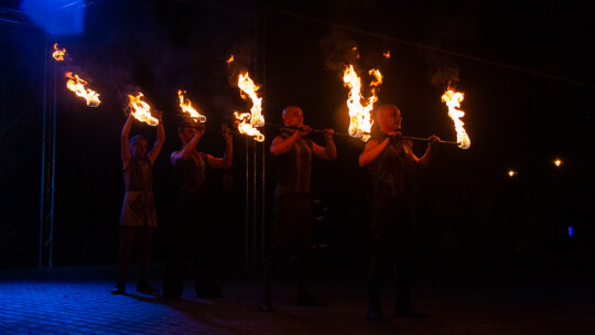
[(226, 141), (223, 158), (196, 151), (205, 133), (203, 123), (182, 123), (177, 137), (182, 150), (174, 151), (170, 159), (181, 196), (171, 231), (169, 259), (163, 279), (163, 296), (177, 300), (184, 287), (184, 261), (190, 255), (193, 261), (194, 284), (198, 298), (223, 298), (221, 290), (209, 273), (212, 223), (207, 192), (209, 169), (227, 169), (232, 162), (232, 140), (226, 125), (221, 126)]

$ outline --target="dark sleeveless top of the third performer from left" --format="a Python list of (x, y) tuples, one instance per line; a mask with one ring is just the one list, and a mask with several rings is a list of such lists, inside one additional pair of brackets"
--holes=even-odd
[[(292, 133), (283, 131), (283, 140)], [(312, 168), (312, 141), (300, 138), (291, 149), (281, 155), (273, 154), (277, 166), (277, 186), (274, 197), (290, 193), (310, 194), (310, 173)]]

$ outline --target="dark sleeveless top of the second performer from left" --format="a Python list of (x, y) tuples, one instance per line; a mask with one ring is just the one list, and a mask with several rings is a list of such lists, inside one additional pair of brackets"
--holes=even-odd
[(207, 154), (194, 150), (187, 160), (177, 160), (173, 164), (177, 186), (187, 194), (206, 192)]

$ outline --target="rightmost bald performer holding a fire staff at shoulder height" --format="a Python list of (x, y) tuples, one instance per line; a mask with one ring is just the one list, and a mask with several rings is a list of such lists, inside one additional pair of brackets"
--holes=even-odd
[(394, 269), (396, 317), (423, 317), (411, 305), (410, 240), (414, 208), (416, 170), (430, 163), (440, 139), (429, 138), (422, 158), (412, 150), (412, 142), (400, 138), (401, 111), (394, 105), (377, 108), (380, 133), (372, 136), (359, 155), (359, 165), (368, 166), (372, 181), (371, 261), (369, 267), (370, 322), (390, 322), (382, 313), (380, 291), (387, 266)]

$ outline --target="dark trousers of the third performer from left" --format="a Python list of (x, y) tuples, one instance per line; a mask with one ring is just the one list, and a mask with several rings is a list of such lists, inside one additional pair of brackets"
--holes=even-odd
[(298, 294), (309, 294), (309, 253), (312, 242), (312, 197), (305, 193), (281, 195), (274, 201), (273, 238), (264, 260), (264, 299), (281, 266), (298, 251)]

